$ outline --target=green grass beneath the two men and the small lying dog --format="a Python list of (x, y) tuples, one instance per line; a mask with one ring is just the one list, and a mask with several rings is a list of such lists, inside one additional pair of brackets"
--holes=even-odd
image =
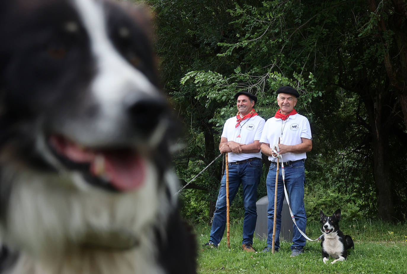
[[(291, 243), (282, 242), (280, 252), (261, 253), (265, 241), (254, 239), (254, 252), (241, 250), (242, 222), (231, 223), (230, 248), (226, 245), (226, 233), (218, 249), (201, 251), (209, 239), (210, 226), (196, 225), (199, 245), (198, 272), (233, 274), (269, 273), (407, 273), (407, 225), (382, 222), (342, 221), (341, 230), (351, 235), (355, 248), (348, 253), (346, 261), (324, 264), (319, 241), (307, 241), (304, 254), (290, 257)], [(306, 234), (316, 239), (319, 223), (307, 224)], [(333, 259), (330, 259), (333, 261)]]

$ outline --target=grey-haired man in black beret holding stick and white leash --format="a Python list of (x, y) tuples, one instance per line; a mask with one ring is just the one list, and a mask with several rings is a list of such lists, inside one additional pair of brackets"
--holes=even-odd
[[(267, 246), (263, 252), (271, 251), (274, 226), (274, 194), (276, 187), (277, 154), (273, 152), (274, 145), (278, 144), (282, 160), (279, 165), (284, 167), (285, 184), (289, 194), (289, 204), (293, 212), (298, 228), (305, 232), (306, 214), (304, 207), (304, 162), (306, 152), (312, 149), (312, 137), (309, 121), (306, 117), (295, 111), (297, 98), (300, 96), (297, 90), (289, 86), (277, 89), (277, 103), (280, 109), (274, 117), (268, 119), (264, 125), (260, 138), (261, 151), (271, 161), (269, 173), (266, 179), (267, 197), (269, 205), (268, 213), (268, 237)], [(279, 143), (280, 141), (280, 143)], [(284, 187), (282, 180), (283, 172), (278, 174), (277, 187), (277, 210), (276, 210), (276, 239), (274, 241), (275, 251), (280, 248), (281, 210), (284, 201)], [(293, 224), (293, 244), (291, 245), (291, 257), (303, 252), (305, 237)]]

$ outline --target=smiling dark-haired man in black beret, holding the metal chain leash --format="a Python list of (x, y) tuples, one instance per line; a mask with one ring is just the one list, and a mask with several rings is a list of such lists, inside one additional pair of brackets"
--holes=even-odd
[[(232, 203), (242, 185), (243, 218), (242, 249), (254, 252), (253, 234), (256, 227), (257, 186), (260, 182), (262, 162), (260, 152), (260, 137), (265, 120), (254, 110), (257, 97), (246, 91), (235, 94), (237, 102), (236, 116), (226, 120), (223, 126), (219, 151), (228, 153), (229, 167), (229, 199)], [(204, 248), (217, 248), (226, 226), (226, 175), (223, 174), (219, 189), (216, 208), (213, 216), (210, 239)]]

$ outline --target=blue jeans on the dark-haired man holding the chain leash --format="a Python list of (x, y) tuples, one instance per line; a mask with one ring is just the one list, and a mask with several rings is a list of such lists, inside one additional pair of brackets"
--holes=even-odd
[[(242, 244), (253, 244), (254, 228), (256, 228), (257, 186), (260, 182), (262, 162), (255, 159), (251, 162), (228, 164), (229, 167), (229, 204), (232, 204), (240, 184), (243, 187), (243, 205), (245, 217), (243, 218)], [(222, 176), (218, 200), (210, 229), (210, 242), (217, 245), (221, 242), (226, 226), (226, 171)]]

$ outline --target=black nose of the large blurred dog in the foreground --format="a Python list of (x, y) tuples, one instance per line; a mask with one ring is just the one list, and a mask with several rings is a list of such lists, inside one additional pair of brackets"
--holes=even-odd
[(162, 96), (144, 96), (127, 111), (136, 130), (142, 135), (148, 135), (158, 126), (168, 112), (168, 107)]

